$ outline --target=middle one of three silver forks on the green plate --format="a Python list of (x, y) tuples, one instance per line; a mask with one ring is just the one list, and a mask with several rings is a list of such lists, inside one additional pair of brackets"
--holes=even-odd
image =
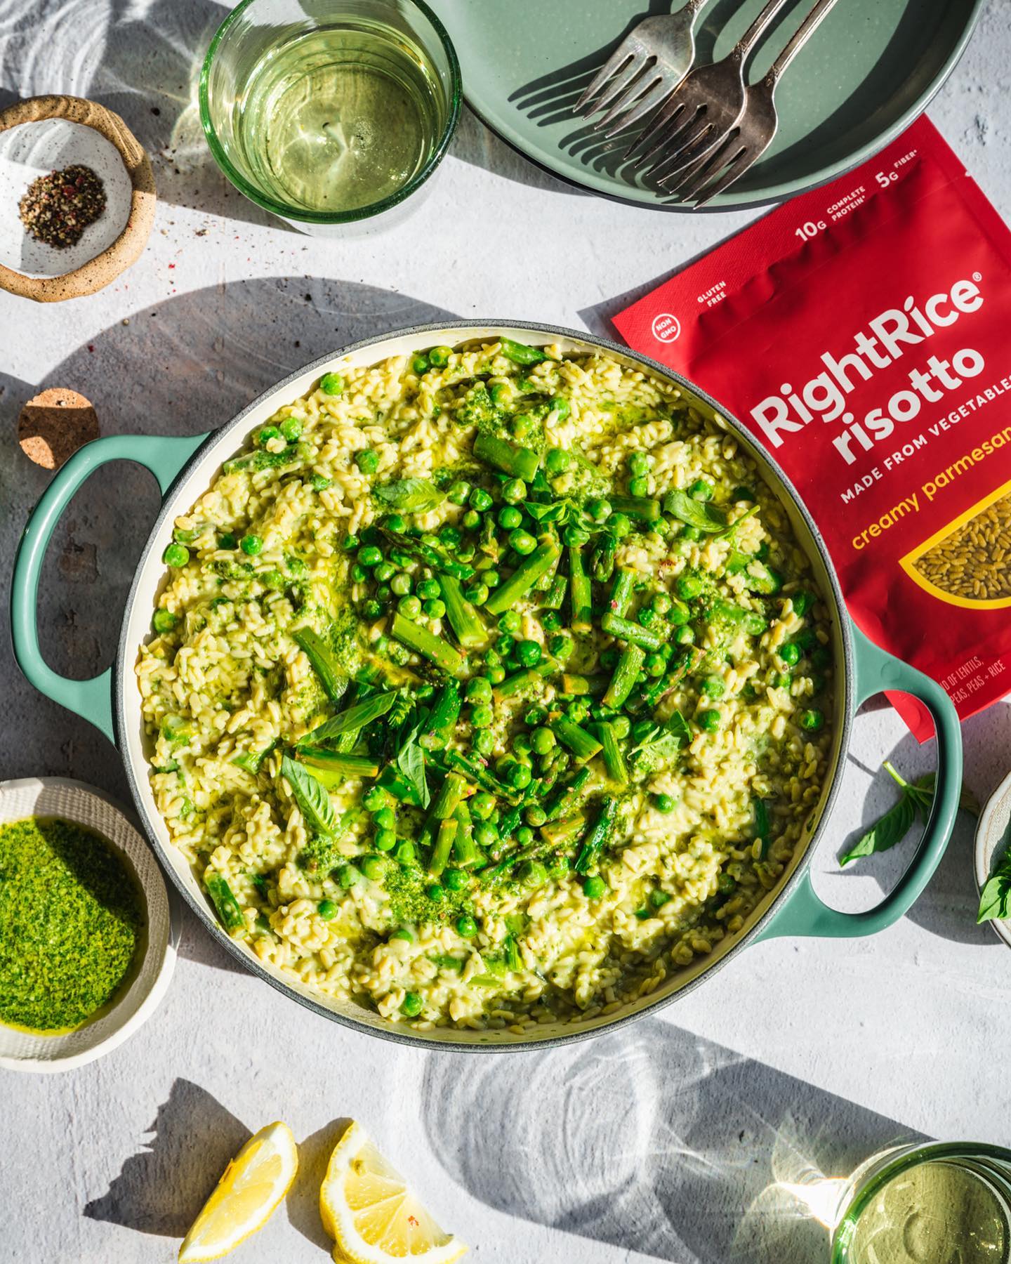
[(786, 3), (768, 0), (727, 57), (681, 81), (629, 149), (637, 169), (670, 177), (720, 143), (744, 106), (744, 62)]

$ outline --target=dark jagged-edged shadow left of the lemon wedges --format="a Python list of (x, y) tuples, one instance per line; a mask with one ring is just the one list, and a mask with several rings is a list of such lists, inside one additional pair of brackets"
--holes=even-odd
[(173, 1083), (147, 1131), (152, 1140), (126, 1159), (101, 1198), (86, 1203), (85, 1216), (182, 1237), (251, 1133), (188, 1079)]

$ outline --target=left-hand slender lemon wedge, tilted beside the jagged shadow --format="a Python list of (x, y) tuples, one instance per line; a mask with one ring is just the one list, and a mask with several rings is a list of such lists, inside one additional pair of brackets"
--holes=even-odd
[(179, 1248), (179, 1264), (216, 1260), (263, 1229), (291, 1189), (298, 1149), (287, 1124), (268, 1124), (225, 1168)]

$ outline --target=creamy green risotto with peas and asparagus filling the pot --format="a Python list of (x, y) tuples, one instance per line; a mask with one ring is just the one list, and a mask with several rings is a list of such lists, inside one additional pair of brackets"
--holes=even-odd
[(225, 930), (322, 997), (609, 1014), (802, 846), (829, 612), (737, 437), (647, 372), (500, 339), (327, 373), (164, 562), (158, 809)]

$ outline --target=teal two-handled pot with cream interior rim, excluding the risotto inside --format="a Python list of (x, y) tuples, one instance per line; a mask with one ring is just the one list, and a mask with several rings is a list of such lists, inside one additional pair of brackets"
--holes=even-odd
[[(407, 355), (418, 346), (450, 346), (481, 339), (508, 336), (521, 343), (557, 343), (564, 350), (602, 349), (633, 368), (647, 369), (675, 380), (682, 397), (704, 416), (732, 431), (763, 470), (776, 492), (814, 568), (815, 578), (832, 612), (835, 667), (833, 750), (829, 776), (820, 801), (811, 810), (806, 843), (797, 847), (776, 889), (753, 910), (743, 929), (717, 944), (714, 951), (691, 966), (669, 976), (653, 994), (639, 997), (623, 1010), (583, 1024), (545, 1024), (535, 1035), (518, 1036), (508, 1031), (404, 1033), (379, 1015), (353, 1004), (339, 1004), (312, 992), (297, 980), (259, 961), (245, 944), (221, 929), (212, 906), (200, 889), (182, 853), (173, 847), (154, 805), (148, 781), (140, 694), (134, 678), (138, 647), (150, 636), (150, 617), (160, 588), (167, 580), (162, 554), (172, 538), (173, 520), (185, 513), (209, 488), (224, 460), (241, 449), (246, 436), (282, 404), (312, 388), (327, 372), (374, 364), (392, 355)], [(99, 466), (109, 461), (136, 461), (158, 479), (164, 501), (134, 576), (116, 661), (94, 680), (67, 680), (43, 661), (39, 652), (35, 603), (43, 556), (53, 530), (73, 493)], [(851, 622), (845, 613), (839, 583), (818, 530), (782, 470), (761, 450), (744, 427), (728, 417), (719, 406), (691, 383), (646, 356), (636, 355), (605, 339), (576, 334), (547, 325), (489, 321), (480, 325), (427, 325), (359, 343), (335, 353), (265, 392), (227, 426), (210, 435), (167, 439), (144, 435), (116, 435), (100, 439), (76, 453), (58, 471), (35, 507), (25, 527), (14, 568), (11, 593), (14, 653), (25, 676), (43, 694), (91, 720), (118, 748), (148, 837), (183, 899), (209, 932), (249, 969), (286, 995), (316, 1012), (361, 1031), (384, 1035), (408, 1044), (452, 1049), (538, 1048), (551, 1042), (580, 1039), (618, 1026), (647, 1010), (671, 1002), (701, 986), (727, 961), (760, 939), (782, 935), (851, 937), (868, 935), (892, 925), (920, 895), (938, 866), (952, 832), (962, 784), (962, 741), (958, 718), (944, 690), (928, 676), (878, 650)], [(899, 690), (919, 698), (934, 717), (936, 727), (938, 793), (930, 819), (916, 854), (902, 877), (881, 902), (864, 913), (840, 913), (815, 894), (810, 878), (810, 858), (825, 830), (825, 823), (839, 795), (840, 774), (849, 747), (857, 707), (882, 690)]]

